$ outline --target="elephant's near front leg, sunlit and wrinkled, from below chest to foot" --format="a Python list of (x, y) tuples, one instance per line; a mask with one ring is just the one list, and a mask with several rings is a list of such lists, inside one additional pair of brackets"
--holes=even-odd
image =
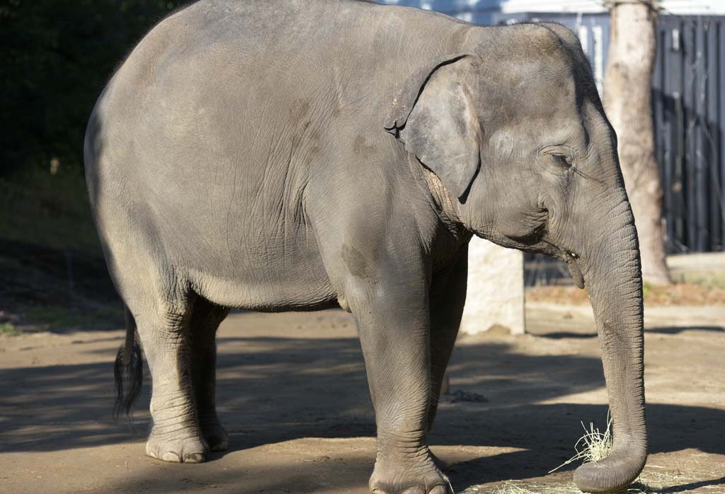
[(348, 300), (360, 332), (378, 430), (370, 490), (446, 494), (447, 479), (426, 443), (431, 403), (426, 290), (411, 290), (397, 280), (355, 291), (366, 294)]

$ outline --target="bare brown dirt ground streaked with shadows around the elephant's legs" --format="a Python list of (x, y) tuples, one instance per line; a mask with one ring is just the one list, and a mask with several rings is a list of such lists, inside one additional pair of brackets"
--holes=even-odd
[[(580, 421), (605, 426), (591, 309), (531, 303), (527, 323), (529, 335), (458, 343), (430, 438), (457, 493), (512, 479), (533, 493), (577, 492), (571, 467), (547, 472), (573, 454)], [(724, 307), (647, 310), (650, 492), (725, 493), (724, 324)], [(231, 449), (199, 465), (144, 456), (147, 372), (136, 435), (111, 418), (122, 341), (121, 330), (0, 337), (1, 493), (368, 493), (373, 409), (348, 314), (224, 322), (218, 403)]]

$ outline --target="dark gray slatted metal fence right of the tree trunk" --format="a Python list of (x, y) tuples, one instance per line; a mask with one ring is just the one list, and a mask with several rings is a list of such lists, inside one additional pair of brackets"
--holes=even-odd
[(725, 18), (661, 16), (653, 77), (670, 252), (725, 246)]

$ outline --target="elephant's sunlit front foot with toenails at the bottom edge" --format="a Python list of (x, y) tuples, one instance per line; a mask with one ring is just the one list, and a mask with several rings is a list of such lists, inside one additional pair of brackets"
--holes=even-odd
[(372, 494), (452, 494), (450, 482), (434, 464), (430, 452), (413, 459), (378, 459), (370, 477)]

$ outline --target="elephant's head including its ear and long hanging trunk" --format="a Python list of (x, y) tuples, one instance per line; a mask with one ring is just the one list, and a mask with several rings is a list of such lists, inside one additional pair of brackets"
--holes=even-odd
[(574, 480), (587, 492), (618, 490), (645, 465), (647, 430), (639, 246), (616, 135), (571, 31), (485, 31), (479, 48), (411, 75), (386, 129), (439, 179), (458, 222), (566, 261), (580, 288), (589, 286), (614, 445)]

